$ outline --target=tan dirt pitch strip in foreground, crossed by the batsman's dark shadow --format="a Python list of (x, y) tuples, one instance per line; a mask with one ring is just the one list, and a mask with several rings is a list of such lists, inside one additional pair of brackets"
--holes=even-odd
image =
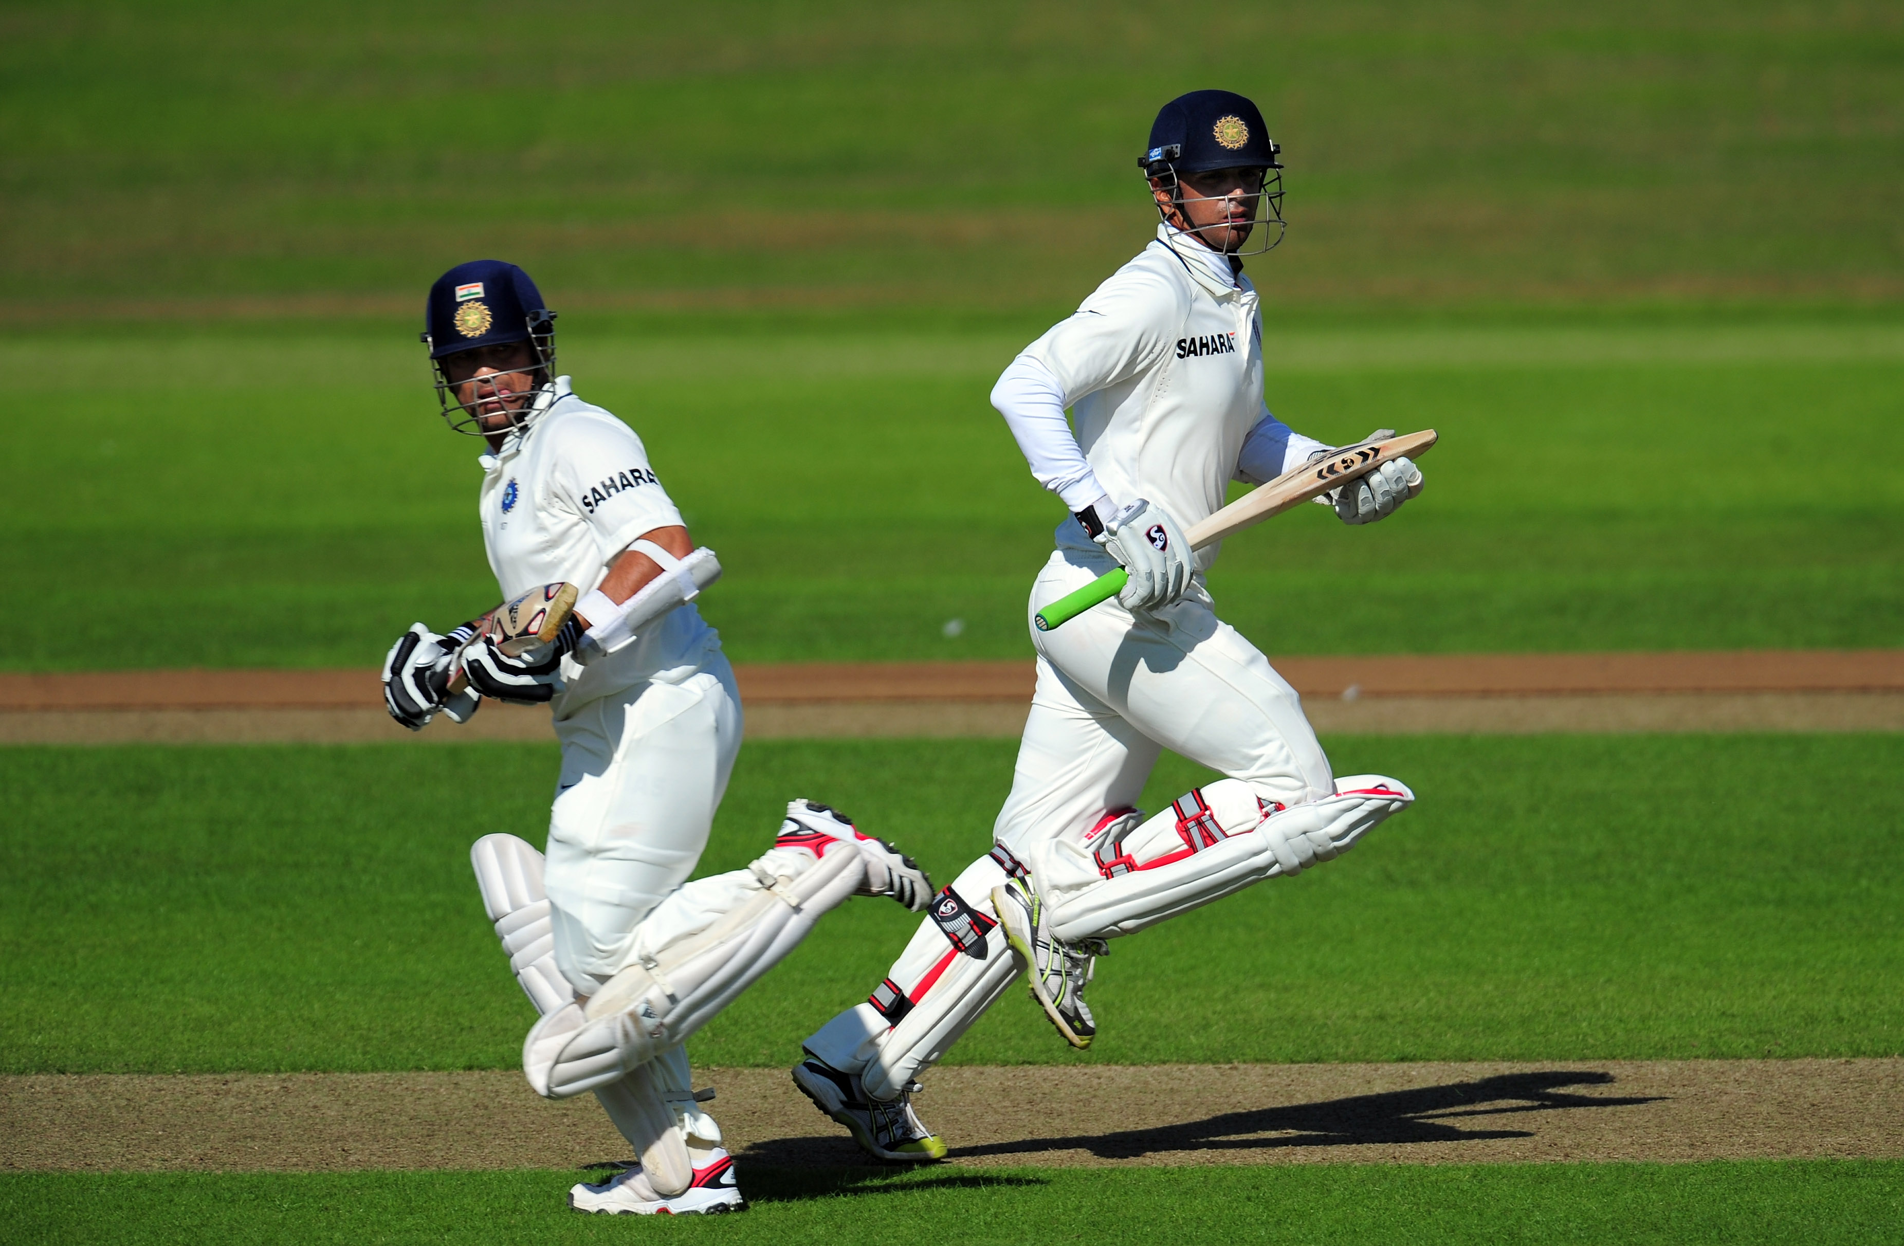
[[(784, 1069), (697, 1069), (741, 1162), (866, 1162)], [(948, 1067), (952, 1164), (1898, 1158), (1904, 1059)], [(516, 1071), (0, 1078), (0, 1170), (579, 1168), (626, 1143)]]

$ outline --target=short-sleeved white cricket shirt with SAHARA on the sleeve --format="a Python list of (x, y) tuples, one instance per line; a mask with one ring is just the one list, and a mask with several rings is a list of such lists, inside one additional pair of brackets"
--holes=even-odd
[[(634, 429), (575, 396), (556, 396), (527, 429), (510, 432), (484, 469), (478, 509), (484, 549), (503, 600), (565, 579), (598, 587), (621, 551), (655, 528), (685, 526)], [(556, 718), (647, 678), (685, 678), (720, 648), (693, 602), (655, 619), (626, 648), (586, 667), (564, 659)]]

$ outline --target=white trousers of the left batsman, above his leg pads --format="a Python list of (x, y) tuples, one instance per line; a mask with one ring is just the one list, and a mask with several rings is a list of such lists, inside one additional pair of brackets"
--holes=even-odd
[[(741, 693), (720, 650), (680, 682), (636, 684), (556, 720), (562, 779), (548, 817), (556, 968), (594, 995), (644, 947), (727, 913), (748, 871), (687, 882), (741, 751)], [(685, 886), (684, 886), (685, 884)]]

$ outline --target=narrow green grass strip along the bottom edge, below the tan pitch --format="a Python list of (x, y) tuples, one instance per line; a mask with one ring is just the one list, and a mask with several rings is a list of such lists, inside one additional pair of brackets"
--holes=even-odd
[(748, 1170), (746, 1216), (575, 1216), (564, 1172), (0, 1176), (0, 1240), (1896, 1242), (1904, 1162)]

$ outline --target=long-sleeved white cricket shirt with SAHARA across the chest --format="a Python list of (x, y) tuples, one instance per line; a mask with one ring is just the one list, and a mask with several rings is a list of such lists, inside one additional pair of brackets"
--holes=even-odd
[[(1032, 396), (1040, 385), (1045, 402)], [(1222, 507), (1230, 480), (1270, 480), (1323, 448), (1262, 404), (1257, 288), (1161, 225), (1156, 242), (1019, 354), (992, 402), (1068, 509), (1148, 497), (1184, 528)], [(1057, 537), (1091, 547), (1076, 520)], [(1217, 553), (1198, 551), (1198, 570)]]

